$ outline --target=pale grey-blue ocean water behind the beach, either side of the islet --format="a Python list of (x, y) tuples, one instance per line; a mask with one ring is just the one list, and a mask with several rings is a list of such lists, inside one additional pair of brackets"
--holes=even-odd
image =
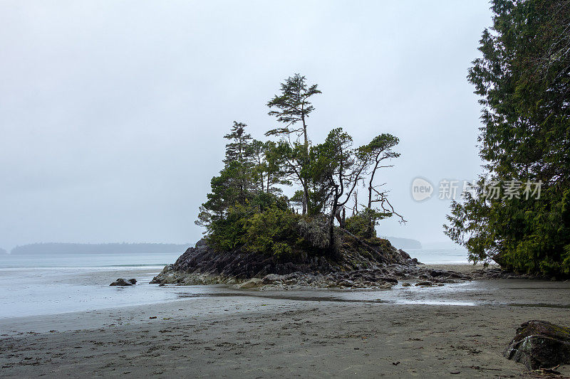
[[(467, 252), (460, 249), (410, 249), (408, 254), (426, 264), (467, 263)], [(1, 256), (0, 319), (155, 304), (219, 291), (149, 284), (179, 256), (180, 252)], [(118, 277), (135, 278), (138, 284), (110, 287)]]

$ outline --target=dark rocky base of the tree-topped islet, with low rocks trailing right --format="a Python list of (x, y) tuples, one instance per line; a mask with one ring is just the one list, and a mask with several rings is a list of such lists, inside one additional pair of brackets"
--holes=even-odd
[[(399, 281), (429, 282), (429, 285), (455, 283), (471, 279), (521, 277), (496, 267), (472, 273), (433, 269), (417, 265), (417, 260), (398, 250), (388, 240), (363, 242), (353, 235), (343, 235), (336, 257), (299, 254), (296, 260), (282, 262), (274, 257), (249, 252), (244, 247), (219, 252), (200, 240), (173, 265), (167, 265), (152, 279), (155, 284), (232, 284), (249, 288), (293, 289), (299, 287), (391, 288)], [(421, 285), (421, 284), (420, 284)], [(428, 284), (424, 284), (428, 285)], [(244, 288), (244, 287), (242, 287)]]

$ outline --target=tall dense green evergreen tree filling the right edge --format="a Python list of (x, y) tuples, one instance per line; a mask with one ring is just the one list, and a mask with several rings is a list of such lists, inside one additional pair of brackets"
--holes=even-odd
[[(469, 80), (482, 97), (474, 195), (452, 204), (446, 233), (474, 262), (570, 274), (570, 3), (494, 0)], [(485, 183), (541, 183), (540, 197), (489, 198)]]

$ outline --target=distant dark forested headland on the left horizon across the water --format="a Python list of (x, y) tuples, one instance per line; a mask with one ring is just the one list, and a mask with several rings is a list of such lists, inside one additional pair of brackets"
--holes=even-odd
[[(184, 252), (190, 244), (174, 243), (32, 243), (16, 246), (11, 254), (114, 254)], [(0, 252), (2, 250), (0, 249)], [(4, 250), (5, 252), (5, 250)]]

